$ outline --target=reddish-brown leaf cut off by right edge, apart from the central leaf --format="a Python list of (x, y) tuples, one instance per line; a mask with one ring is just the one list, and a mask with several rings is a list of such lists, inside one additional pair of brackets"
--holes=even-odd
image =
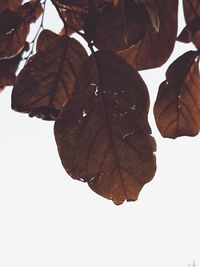
[(154, 106), (163, 137), (194, 136), (200, 130), (199, 52), (189, 51), (167, 70)]

